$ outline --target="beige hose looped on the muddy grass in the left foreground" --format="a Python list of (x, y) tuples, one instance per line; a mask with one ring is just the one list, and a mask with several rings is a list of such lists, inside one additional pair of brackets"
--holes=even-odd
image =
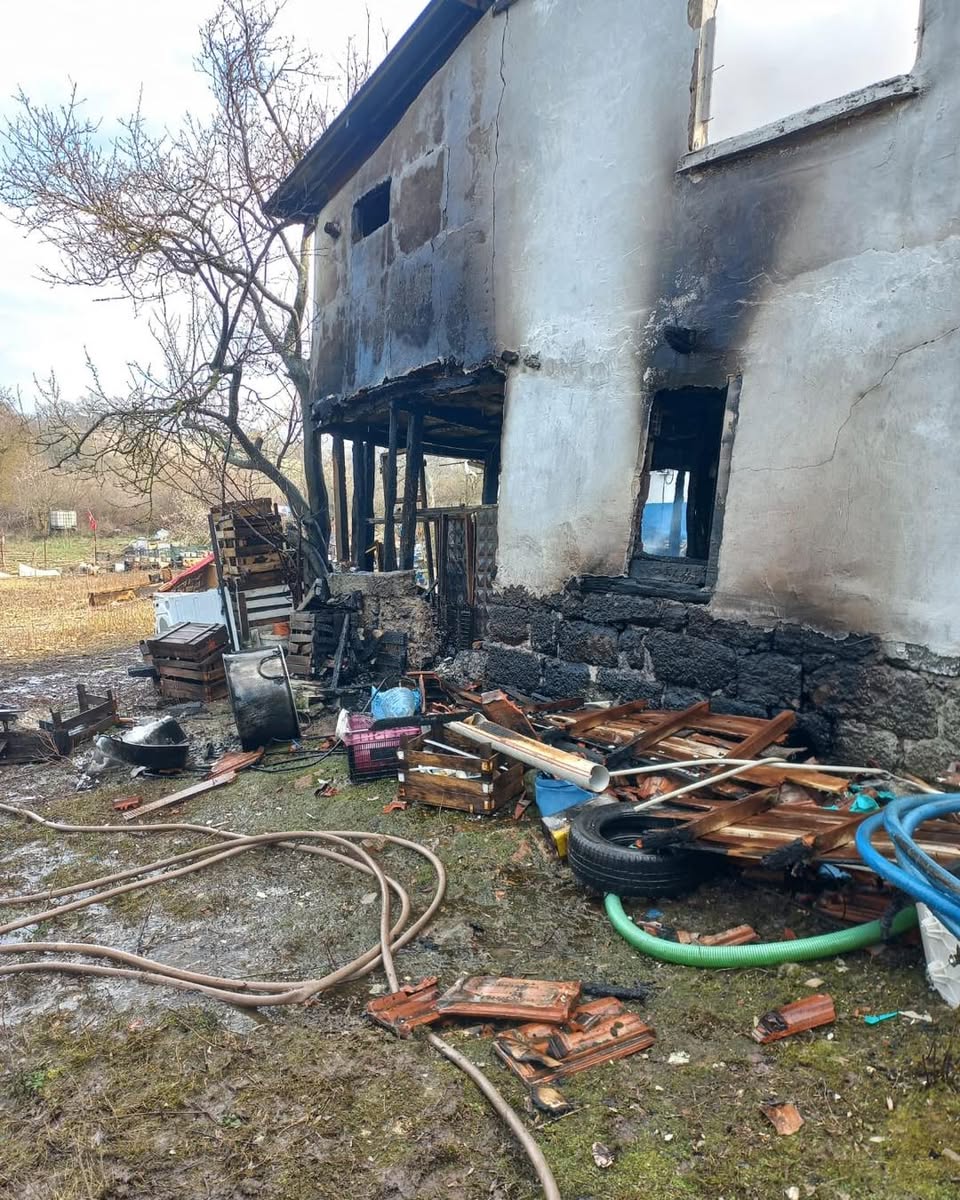
[[(184, 971), (139, 954), (130, 954), (126, 950), (119, 950), (114, 947), (95, 946), (86, 942), (0, 942), (0, 954), (24, 954), (30, 952), (37, 954), (70, 954), (106, 959), (108, 962), (122, 965), (109, 966), (96, 962), (77, 962), (71, 959), (36, 959), (29, 962), (12, 962), (0, 966), (0, 976), (26, 972), (68, 972), (73, 974), (107, 976), (114, 979), (134, 979), (140, 983), (167, 984), (168, 986), (187, 991), (197, 991), (230, 1004), (260, 1008), (272, 1004), (304, 1003), (328, 991), (338, 983), (348, 979), (359, 979), (361, 976), (373, 971), (379, 964), (383, 964), (391, 991), (398, 991), (400, 980), (394, 967), (394, 952), (410, 942), (433, 918), (443, 902), (446, 888), (446, 871), (440, 859), (432, 851), (407, 838), (397, 838), (389, 834), (359, 833), (356, 830), (318, 832), (316, 829), (299, 829), (244, 836), (230, 830), (215, 829), (212, 826), (188, 824), (185, 822), (79, 826), (47, 821), (30, 809), (22, 809), (11, 804), (0, 804), (0, 811), (26, 817), (37, 824), (44, 826), (47, 829), (55, 829), (60, 833), (116, 833), (140, 836), (148, 833), (200, 833), (220, 839), (214, 845), (200, 846), (180, 854), (157, 859), (143, 866), (128, 868), (124, 871), (88, 880), (83, 883), (74, 883), (70, 887), (54, 888), (24, 896), (0, 896), (0, 905), (10, 906), (54, 900), (60, 896), (74, 895), (79, 892), (90, 893), (78, 900), (71, 900), (62, 905), (48, 907), (42, 912), (30, 913), (26, 917), (7, 922), (0, 925), (0, 934), (8, 934), (28, 925), (36, 925), (40, 922), (50, 920), (64, 913), (76, 912), (78, 908), (84, 908), (88, 905), (103, 904), (104, 900), (151, 887), (166, 880), (179, 878), (262, 846), (276, 845), (286, 850), (299, 850), (332, 859), (372, 876), (380, 890), (380, 936), (378, 944), (352, 962), (338, 967), (336, 971), (319, 979), (302, 979), (294, 984), (290, 984), (289, 980), (232, 979), (196, 971)], [(412, 925), (407, 925), (413, 907), (409, 895), (359, 845), (362, 841), (370, 840), (382, 840), (395, 846), (401, 846), (404, 850), (410, 850), (426, 858), (436, 871), (437, 886), (433, 899)], [(226, 847), (223, 846), (224, 841), (228, 842)], [(324, 845), (310, 845), (310, 842), (323, 842)], [(148, 877), (143, 878), (142, 876)], [(400, 901), (401, 910), (397, 920), (392, 925), (390, 912), (391, 892)], [(434, 1033), (427, 1034), (427, 1042), (464, 1074), (469, 1075), (496, 1110), (497, 1115), (510, 1127), (510, 1130), (536, 1171), (546, 1200), (560, 1200), (557, 1182), (540, 1147), (520, 1116), (500, 1096), (486, 1075), (460, 1054), (460, 1051), (455, 1050), (454, 1046)]]

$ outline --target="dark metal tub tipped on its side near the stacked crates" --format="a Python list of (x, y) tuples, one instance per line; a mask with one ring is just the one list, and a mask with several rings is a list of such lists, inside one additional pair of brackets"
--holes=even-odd
[(224, 654), (227, 690), (245, 750), (300, 737), (287, 661), (278, 648)]

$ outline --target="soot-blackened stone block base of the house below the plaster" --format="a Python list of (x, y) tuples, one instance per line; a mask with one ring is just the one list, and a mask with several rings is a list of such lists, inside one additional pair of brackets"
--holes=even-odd
[(792, 740), (845, 762), (934, 778), (960, 756), (960, 659), (864, 634), (832, 637), (714, 617), (697, 604), (521, 588), (488, 610), (487, 679), (526, 692), (797, 713)]

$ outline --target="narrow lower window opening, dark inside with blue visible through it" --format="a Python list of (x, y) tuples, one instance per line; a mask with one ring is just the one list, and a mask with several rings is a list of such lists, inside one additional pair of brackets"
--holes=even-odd
[(644, 558), (708, 559), (725, 403), (721, 388), (654, 396), (642, 484)]

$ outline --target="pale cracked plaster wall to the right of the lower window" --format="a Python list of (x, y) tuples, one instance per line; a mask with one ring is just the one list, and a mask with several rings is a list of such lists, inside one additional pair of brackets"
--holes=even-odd
[(958, 53), (928, 0), (923, 94), (820, 134), (740, 352), (718, 610), (960, 650)]

